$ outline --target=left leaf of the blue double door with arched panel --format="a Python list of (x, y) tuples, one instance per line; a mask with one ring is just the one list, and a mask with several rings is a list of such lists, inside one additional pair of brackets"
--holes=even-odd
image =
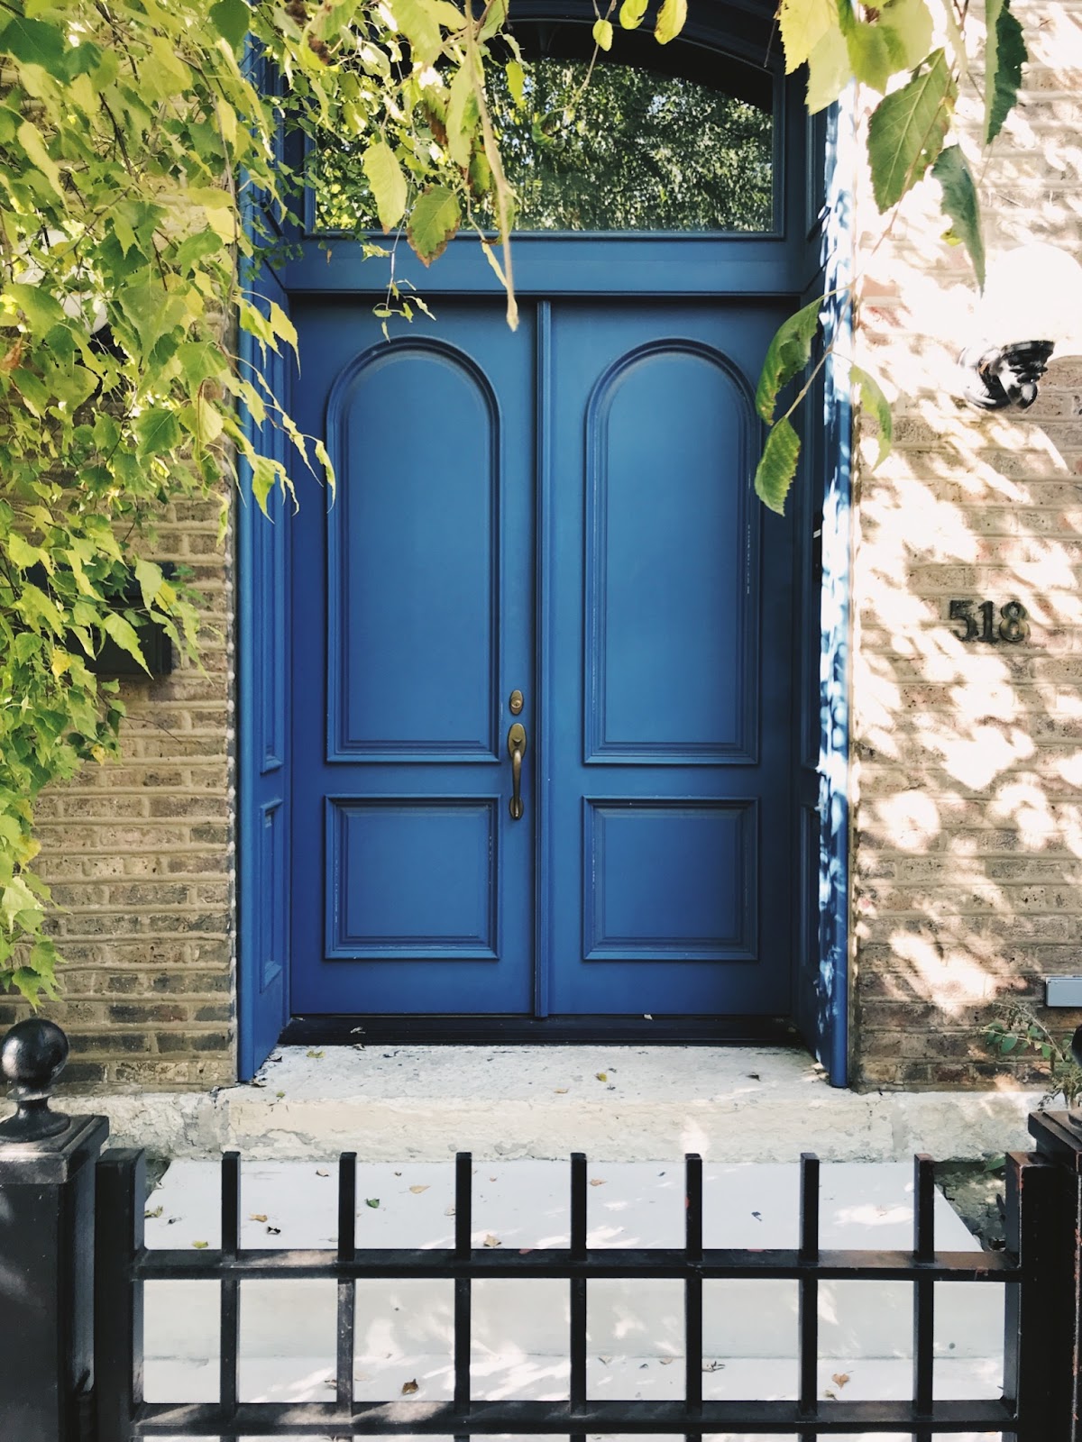
[[(296, 414), (338, 486), (294, 521), (294, 1014), (524, 1014), (532, 787), (531, 322), (441, 304), (382, 340), (365, 301), (294, 316)], [(309, 637), (309, 642), (304, 640)], [(325, 639), (326, 637), (326, 639)]]

